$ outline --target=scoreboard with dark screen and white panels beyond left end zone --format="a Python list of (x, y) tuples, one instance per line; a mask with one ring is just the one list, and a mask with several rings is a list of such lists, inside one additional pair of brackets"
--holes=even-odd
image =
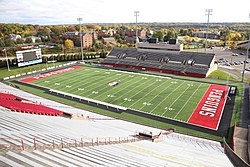
[(32, 64), (42, 63), (41, 49), (22, 50), (16, 52), (17, 66), (23, 67)]

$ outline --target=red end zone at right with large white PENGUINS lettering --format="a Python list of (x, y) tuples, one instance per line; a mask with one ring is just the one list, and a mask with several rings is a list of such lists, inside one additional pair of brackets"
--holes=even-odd
[(225, 107), (229, 87), (210, 85), (188, 123), (217, 130)]

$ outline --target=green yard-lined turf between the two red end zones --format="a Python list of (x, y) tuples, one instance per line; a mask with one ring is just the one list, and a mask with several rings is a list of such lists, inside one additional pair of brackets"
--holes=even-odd
[[(119, 84), (109, 86), (112, 82)], [(89, 67), (32, 84), (185, 122), (209, 87), (206, 83)]]

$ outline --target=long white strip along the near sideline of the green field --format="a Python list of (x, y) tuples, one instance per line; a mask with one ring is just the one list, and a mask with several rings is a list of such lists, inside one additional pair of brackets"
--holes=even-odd
[(87, 98), (87, 97), (82, 97), (82, 96), (78, 96), (78, 95), (73, 95), (73, 94), (71, 94), (71, 93), (66, 93), (66, 92), (62, 92), (62, 91), (59, 91), (59, 90), (50, 89), (49, 91), (50, 91), (50, 92), (54, 92), (54, 93), (59, 93), (59, 94), (62, 94), (62, 95), (67, 95), (67, 96), (71, 96), (71, 97), (76, 97), (76, 98), (79, 98), (79, 99), (81, 99), (81, 100), (87, 100), (87, 101), (90, 101), (90, 102), (99, 103), (99, 104), (102, 104), (102, 105), (105, 105), (105, 106), (110, 106), (110, 107), (118, 108), (118, 109), (121, 109), (121, 110), (127, 110), (127, 108), (125, 108), (125, 107), (121, 107), (121, 106), (117, 106), (117, 105), (114, 105), (114, 104), (102, 102), (102, 101), (99, 101), (99, 100), (90, 99), (90, 98)]

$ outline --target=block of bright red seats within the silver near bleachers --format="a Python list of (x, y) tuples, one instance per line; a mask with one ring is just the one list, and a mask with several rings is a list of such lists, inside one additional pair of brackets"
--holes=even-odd
[(6, 94), (0, 92), (0, 106), (5, 108), (9, 108), (16, 112), (24, 112), (30, 114), (39, 114), (39, 115), (51, 115), (57, 116), (62, 115), (63, 112), (59, 110), (55, 110), (32, 101), (26, 100), (24, 98)]

